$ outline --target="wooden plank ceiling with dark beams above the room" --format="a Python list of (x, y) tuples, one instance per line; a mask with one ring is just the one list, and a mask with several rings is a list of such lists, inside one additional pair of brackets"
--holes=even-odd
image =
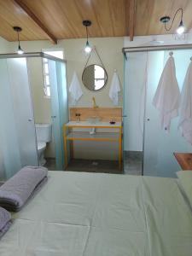
[[(191, 0), (0, 0), (0, 36), (20, 40), (85, 38), (82, 20), (91, 20), (91, 37), (165, 34), (160, 17), (183, 8), (183, 22), (192, 26)], [(179, 23), (179, 15), (170, 33)]]

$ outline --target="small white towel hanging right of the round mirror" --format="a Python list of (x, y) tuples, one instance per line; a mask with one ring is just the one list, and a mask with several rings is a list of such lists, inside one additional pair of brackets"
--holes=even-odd
[(116, 72), (113, 73), (113, 79), (111, 82), (111, 87), (109, 90), (109, 97), (113, 101), (113, 105), (117, 106), (119, 104), (119, 91), (120, 91), (120, 84), (119, 84), (119, 77)]

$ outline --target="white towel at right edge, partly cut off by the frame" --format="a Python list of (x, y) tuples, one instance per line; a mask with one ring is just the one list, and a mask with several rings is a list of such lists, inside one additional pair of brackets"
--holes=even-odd
[(192, 61), (183, 83), (178, 128), (181, 129), (183, 137), (192, 144)]

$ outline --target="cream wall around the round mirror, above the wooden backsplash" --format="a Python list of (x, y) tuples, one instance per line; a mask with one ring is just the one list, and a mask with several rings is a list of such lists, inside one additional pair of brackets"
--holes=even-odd
[[(84, 54), (84, 44), (84, 38), (60, 40), (56, 45), (49, 43), (49, 41), (21, 42), (22, 48), (27, 52), (41, 51), (42, 49), (51, 48), (64, 50), (65, 59), (67, 60), (67, 86), (71, 83), (73, 72), (76, 71), (84, 92), (84, 96), (81, 97), (78, 106), (91, 107), (91, 98), (92, 96), (95, 96), (97, 105), (101, 107), (113, 107), (113, 103), (108, 97), (108, 91), (114, 69), (117, 69), (121, 86), (123, 86), (123, 55), (121, 50), (124, 44), (124, 38), (90, 38), (90, 44), (96, 46), (108, 73), (107, 86), (105, 86), (103, 90), (97, 92), (87, 90), (81, 80), (84, 65), (88, 58), (88, 55)], [(16, 47), (16, 43), (11, 43), (13, 51)], [(100, 63), (95, 54), (91, 56), (89, 61), (89, 64), (93, 63)], [(119, 106), (122, 106), (122, 94), (120, 96)]]

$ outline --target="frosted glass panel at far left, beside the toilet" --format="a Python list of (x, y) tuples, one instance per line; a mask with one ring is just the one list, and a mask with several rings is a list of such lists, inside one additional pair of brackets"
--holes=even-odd
[(0, 60), (1, 179), (22, 166), (38, 166), (38, 150), (26, 58)]

